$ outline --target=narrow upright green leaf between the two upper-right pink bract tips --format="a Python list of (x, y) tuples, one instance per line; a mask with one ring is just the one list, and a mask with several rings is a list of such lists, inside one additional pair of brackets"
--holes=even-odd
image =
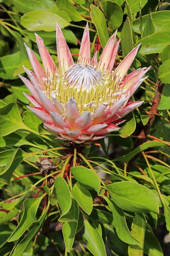
[(124, 23), (124, 27), (121, 32), (121, 45), (122, 45), (124, 56), (129, 54), (133, 49), (131, 23), (128, 17)]

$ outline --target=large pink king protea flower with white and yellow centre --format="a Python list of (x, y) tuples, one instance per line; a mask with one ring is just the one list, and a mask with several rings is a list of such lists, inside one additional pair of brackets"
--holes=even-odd
[(149, 68), (139, 68), (126, 75), (140, 45), (135, 47), (113, 70), (120, 40), (111, 36), (99, 60), (97, 52), (91, 60), (88, 24), (85, 27), (78, 63), (74, 63), (65, 38), (57, 25), (56, 67), (37, 34), (43, 67), (26, 46), (33, 71), (24, 67), (30, 80), (20, 76), (32, 95), (25, 94), (34, 107), (28, 108), (44, 122), (44, 128), (58, 139), (74, 143), (90, 143), (119, 129), (122, 118), (142, 101), (131, 102), (131, 95), (147, 78)]

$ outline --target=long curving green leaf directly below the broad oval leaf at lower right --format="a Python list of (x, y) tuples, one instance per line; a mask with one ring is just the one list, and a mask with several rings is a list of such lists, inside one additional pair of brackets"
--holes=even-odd
[(120, 209), (110, 198), (107, 198), (106, 196), (104, 196), (104, 198), (108, 203), (111, 213), (113, 215), (112, 226), (115, 228), (120, 240), (122, 240), (124, 243), (138, 244), (139, 242), (135, 237), (132, 236), (131, 232), (128, 229), (124, 216), (124, 211)]

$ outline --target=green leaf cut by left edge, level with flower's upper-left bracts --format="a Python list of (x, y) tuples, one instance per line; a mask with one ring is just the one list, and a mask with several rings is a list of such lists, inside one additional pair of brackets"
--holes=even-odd
[(9, 54), (0, 58), (0, 78), (4, 80), (13, 80), (14, 71), (20, 64), (20, 52)]

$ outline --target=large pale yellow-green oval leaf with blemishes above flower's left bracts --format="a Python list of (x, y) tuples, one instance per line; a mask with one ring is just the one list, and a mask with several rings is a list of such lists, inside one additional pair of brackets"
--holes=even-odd
[(32, 11), (24, 14), (20, 19), (20, 24), (30, 31), (44, 30), (51, 32), (56, 30), (56, 21), (62, 29), (70, 25), (68, 21), (58, 14), (49, 11)]

